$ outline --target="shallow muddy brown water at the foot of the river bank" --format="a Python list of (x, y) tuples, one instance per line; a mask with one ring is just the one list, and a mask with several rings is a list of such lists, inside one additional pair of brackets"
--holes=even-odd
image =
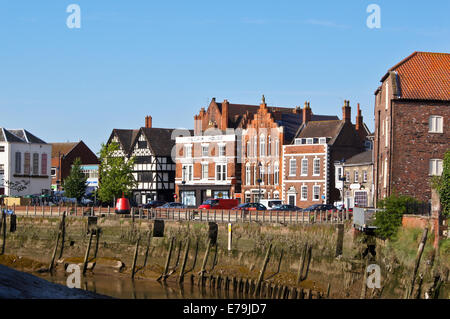
[[(66, 285), (67, 277), (63, 275), (42, 274), (39, 277), (50, 282)], [(156, 280), (130, 279), (95, 275), (81, 277), (81, 289), (121, 299), (248, 299), (250, 296), (233, 293), (232, 289), (214, 290), (205, 287), (176, 283), (159, 283)]]

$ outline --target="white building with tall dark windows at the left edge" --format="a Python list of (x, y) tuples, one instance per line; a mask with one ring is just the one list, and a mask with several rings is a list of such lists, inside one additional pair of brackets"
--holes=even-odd
[(24, 129), (0, 127), (0, 195), (50, 191), (52, 146)]

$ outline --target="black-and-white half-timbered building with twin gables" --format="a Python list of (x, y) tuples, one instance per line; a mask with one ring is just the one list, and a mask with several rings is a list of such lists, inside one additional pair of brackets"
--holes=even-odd
[[(151, 200), (173, 201), (175, 194), (174, 129), (153, 128), (152, 118), (146, 117), (145, 127), (138, 130), (113, 129), (108, 143), (115, 142), (115, 156), (134, 158), (133, 176), (137, 187), (132, 190), (136, 205)], [(101, 182), (101, 181), (100, 181)]]

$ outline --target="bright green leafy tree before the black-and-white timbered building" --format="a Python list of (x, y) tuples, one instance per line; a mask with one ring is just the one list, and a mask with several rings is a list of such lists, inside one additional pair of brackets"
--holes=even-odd
[(111, 202), (124, 195), (130, 195), (136, 187), (133, 176), (134, 158), (126, 160), (117, 156), (120, 150), (118, 143), (102, 144), (100, 150), (100, 185), (98, 197), (103, 202)]

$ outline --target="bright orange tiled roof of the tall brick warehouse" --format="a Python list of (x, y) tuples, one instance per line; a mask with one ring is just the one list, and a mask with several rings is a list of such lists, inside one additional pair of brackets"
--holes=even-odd
[(389, 71), (398, 75), (399, 98), (450, 100), (449, 53), (414, 52)]

